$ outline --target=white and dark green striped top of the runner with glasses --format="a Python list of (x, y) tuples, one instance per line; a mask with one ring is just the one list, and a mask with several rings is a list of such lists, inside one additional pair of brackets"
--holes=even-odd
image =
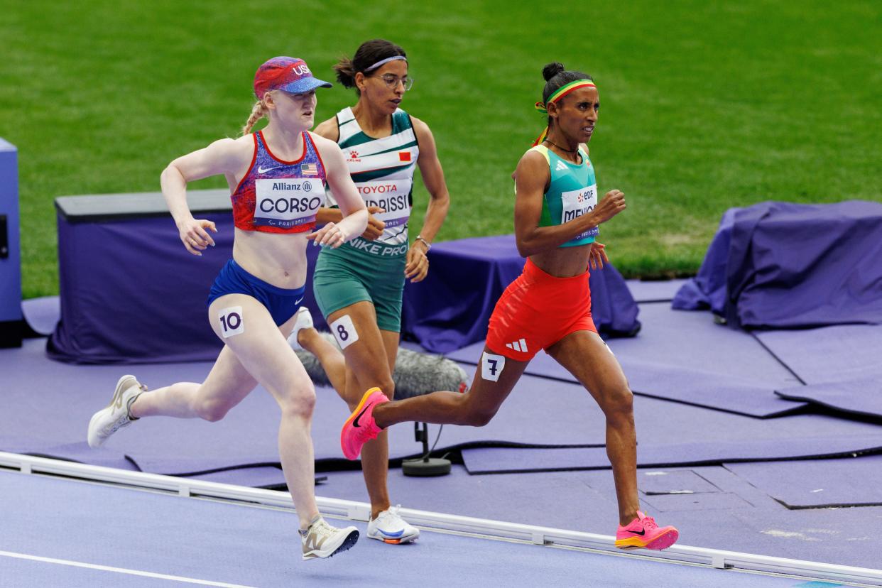
[[(381, 255), (399, 256), (407, 253), (407, 220), (413, 205), (414, 169), (420, 156), (414, 125), (410, 116), (398, 108), (392, 113), (392, 134), (372, 138), (355, 120), (352, 108), (337, 113), (340, 138), (337, 145), (346, 157), (349, 175), (367, 206), (379, 206), (385, 212), (377, 219), (385, 222), (383, 234), (376, 241), (356, 237), (348, 244), (355, 249)], [(331, 190), (327, 204), (337, 208)]]

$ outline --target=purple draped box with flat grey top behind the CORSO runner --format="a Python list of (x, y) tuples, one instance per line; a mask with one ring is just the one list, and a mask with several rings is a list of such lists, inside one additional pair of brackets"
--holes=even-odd
[[(232, 255), (228, 190), (191, 190), (191, 210), (213, 220), (216, 246), (188, 253), (159, 193), (60, 197), (61, 321), (47, 343), (74, 363), (213, 361), (221, 341), (208, 324), (208, 291)], [(309, 247), (307, 282), (318, 247)], [(306, 288), (304, 303), (324, 320)]]

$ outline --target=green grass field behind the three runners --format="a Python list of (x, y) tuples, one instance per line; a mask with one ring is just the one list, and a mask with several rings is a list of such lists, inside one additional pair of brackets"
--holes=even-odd
[[(722, 212), (882, 200), (878, 2), (4, 2), (0, 137), (19, 147), (25, 297), (57, 293), (57, 196), (159, 190), (169, 160), (235, 136), (258, 64), (318, 77), (361, 41), (408, 53), (452, 206), (440, 239), (512, 232), (510, 174), (542, 128), (542, 65), (594, 76), (602, 227), (630, 276), (697, 270)], [(318, 120), (354, 103), (320, 91)], [(220, 178), (193, 185), (221, 187)], [(419, 185), (415, 227), (427, 199)]]

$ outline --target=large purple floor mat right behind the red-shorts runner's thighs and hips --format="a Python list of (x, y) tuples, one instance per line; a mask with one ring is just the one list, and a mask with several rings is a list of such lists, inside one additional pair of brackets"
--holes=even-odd
[[(710, 313), (671, 310), (666, 304), (642, 304), (640, 320), (643, 330), (636, 338), (608, 341), (633, 391), (764, 418), (805, 406), (804, 402), (775, 395), (776, 387), (798, 383), (786, 368), (750, 335), (714, 324)], [(483, 346), (476, 343), (447, 357), (475, 363)], [(530, 362), (527, 374), (575, 382), (544, 352)]]

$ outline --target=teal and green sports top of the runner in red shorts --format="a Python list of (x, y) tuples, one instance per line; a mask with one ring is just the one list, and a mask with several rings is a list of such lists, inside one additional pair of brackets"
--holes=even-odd
[[(582, 156), (580, 164), (562, 159), (557, 153), (545, 145), (536, 145), (530, 151), (542, 153), (549, 162), (551, 182), (549, 189), (542, 198), (542, 217), (540, 227), (563, 225), (594, 210), (597, 205), (597, 181), (594, 179), (594, 167), (588, 154), (579, 149)], [(575, 247), (594, 242), (599, 233), (597, 227), (577, 234), (573, 239), (558, 247)]]

